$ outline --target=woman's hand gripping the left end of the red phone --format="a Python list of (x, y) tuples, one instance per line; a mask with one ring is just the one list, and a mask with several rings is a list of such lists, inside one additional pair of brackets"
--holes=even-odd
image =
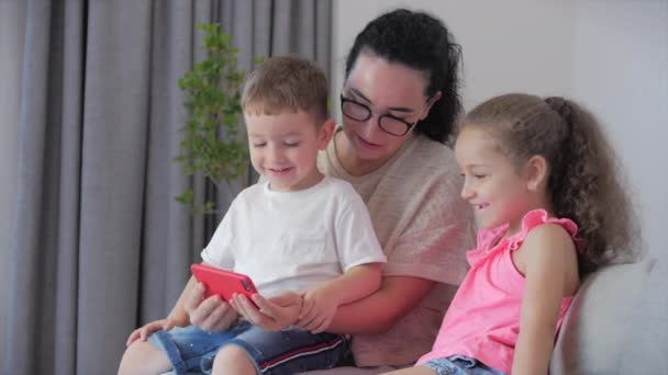
[(204, 299), (205, 289), (204, 284), (198, 283), (186, 299), (183, 307), (190, 322), (208, 332), (224, 331), (236, 321), (238, 315), (218, 295)]

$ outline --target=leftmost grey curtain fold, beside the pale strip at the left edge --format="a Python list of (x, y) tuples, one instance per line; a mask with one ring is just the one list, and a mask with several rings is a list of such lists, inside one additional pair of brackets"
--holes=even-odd
[(48, 141), (58, 136), (57, 126), (45, 124), (51, 118), (59, 122), (62, 96), (56, 93), (59, 79), (52, 78), (48, 71), (52, 65), (63, 66), (59, 61), (62, 35), (52, 31), (52, 23), (57, 24), (62, 12), (62, 7), (45, 1), (27, 4), (31, 16), (25, 25), (21, 78), (18, 212), (9, 252), (4, 373), (11, 373), (9, 370), (21, 374), (46, 372), (42, 363), (30, 361), (21, 353), (44, 353), (43, 359), (48, 363), (54, 359), (48, 348), (55, 342), (55, 334), (49, 330), (55, 321), (55, 272), (47, 264), (57, 260), (54, 234), (58, 223), (54, 214), (59, 200), (53, 164), (58, 159), (59, 147), (57, 140)]

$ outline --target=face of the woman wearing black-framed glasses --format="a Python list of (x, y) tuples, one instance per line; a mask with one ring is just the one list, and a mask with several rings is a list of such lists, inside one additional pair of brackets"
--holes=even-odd
[[(425, 95), (426, 77), (419, 70), (371, 54), (359, 54), (343, 88), (343, 96), (371, 110), (366, 121), (343, 115), (344, 133), (349, 141), (344, 156), (366, 162), (382, 163), (389, 159), (413, 132), (396, 136), (383, 130), (379, 116), (388, 115), (391, 122), (403, 121), (410, 125), (426, 117), (431, 103)], [(383, 120), (386, 124), (387, 120)], [(409, 126), (410, 126), (409, 125)]]

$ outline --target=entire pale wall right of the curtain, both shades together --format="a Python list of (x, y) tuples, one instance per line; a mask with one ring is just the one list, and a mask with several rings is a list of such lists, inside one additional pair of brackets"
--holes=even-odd
[(334, 93), (355, 35), (397, 7), (439, 16), (461, 44), (466, 109), (512, 91), (590, 106), (626, 166), (649, 251), (668, 253), (659, 216), (668, 212), (668, 174), (659, 163), (668, 140), (668, 1), (336, 0)]

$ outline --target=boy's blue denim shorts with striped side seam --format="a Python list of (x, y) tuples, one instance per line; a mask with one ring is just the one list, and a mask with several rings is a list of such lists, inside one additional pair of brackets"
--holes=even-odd
[(311, 333), (297, 327), (265, 331), (245, 320), (223, 332), (207, 332), (194, 326), (159, 330), (148, 341), (167, 353), (177, 374), (211, 374), (215, 354), (227, 344), (243, 349), (258, 374), (270, 375), (332, 368), (349, 351), (343, 334)]

